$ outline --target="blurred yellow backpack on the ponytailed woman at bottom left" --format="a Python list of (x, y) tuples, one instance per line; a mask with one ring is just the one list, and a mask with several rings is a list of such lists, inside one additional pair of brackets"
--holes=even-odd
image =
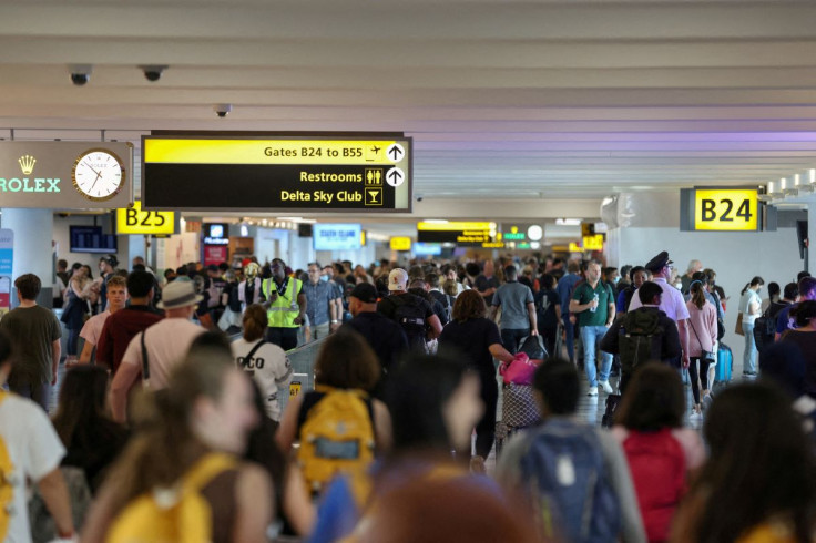
[(173, 489), (154, 489), (128, 503), (113, 520), (105, 541), (212, 541), (212, 511), (201, 490), (236, 465), (237, 461), (228, 454), (206, 454), (193, 464)]

